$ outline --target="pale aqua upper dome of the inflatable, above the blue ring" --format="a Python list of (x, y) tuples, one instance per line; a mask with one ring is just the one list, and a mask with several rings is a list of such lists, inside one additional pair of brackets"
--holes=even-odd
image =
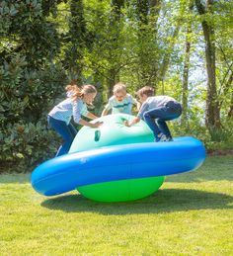
[(101, 121), (104, 124), (100, 128), (81, 128), (73, 140), (69, 153), (102, 146), (153, 141), (153, 133), (143, 121), (131, 128), (124, 126), (124, 121), (130, 121), (133, 118), (126, 114), (116, 114), (93, 121)]

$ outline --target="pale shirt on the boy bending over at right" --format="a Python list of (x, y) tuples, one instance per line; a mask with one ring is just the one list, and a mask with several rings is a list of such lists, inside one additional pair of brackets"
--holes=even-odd
[(149, 110), (155, 109), (155, 108), (161, 108), (165, 107), (168, 102), (177, 102), (174, 98), (170, 96), (154, 96), (154, 97), (148, 97), (145, 102), (141, 105), (141, 108), (137, 114), (137, 117), (140, 119), (143, 119), (143, 114)]

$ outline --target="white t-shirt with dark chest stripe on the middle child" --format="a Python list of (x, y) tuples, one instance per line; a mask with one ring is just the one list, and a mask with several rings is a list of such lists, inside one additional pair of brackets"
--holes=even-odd
[(112, 114), (123, 113), (131, 115), (133, 104), (136, 104), (136, 100), (130, 94), (126, 94), (125, 98), (121, 102), (117, 101), (116, 96), (114, 95), (109, 99), (105, 108), (108, 111), (112, 109)]

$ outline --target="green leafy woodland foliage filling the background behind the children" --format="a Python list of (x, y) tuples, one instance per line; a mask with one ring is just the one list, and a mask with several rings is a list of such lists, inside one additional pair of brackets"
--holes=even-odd
[[(98, 88), (95, 113), (122, 81), (128, 92), (151, 85), (157, 94), (182, 101), (189, 51), (186, 125), (208, 148), (232, 146), (232, 1), (3, 0), (0, 2), (0, 140), (3, 165), (34, 166), (51, 157), (59, 140), (46, 128), (46, 114), (64, 97), (71, 80)], [(202, 3), (202, 1), (200, 1)], [(192, 7), (192, 8), (191, 8)], [(206, 128), (205, 44), (201, 22), (214, 30), (216, 97), (220, 127)], [(188, 30), (189, 29), (189, 30)]]

